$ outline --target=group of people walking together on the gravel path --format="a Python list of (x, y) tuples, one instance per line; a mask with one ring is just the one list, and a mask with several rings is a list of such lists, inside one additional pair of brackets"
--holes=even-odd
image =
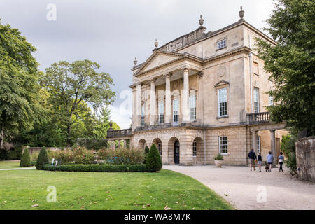
[[(253, 148), (252, 148), (251, 151), (248, 153), (248, 158), (251, 160), (251, 171), (252, 171), (252, 169), (256, 170), (255, 169), (255, 161), (257, 160), (259, 171), (261, 172), (261, 165), (262, 165), (261, 153), (258, 153), (258, 156), (256, 156), (256, 153), (253, 151)], [(274, 156), (272, 155), (272, 152), (269, 151), (268, 155), (266, 156), (266, 160), (267, 160), (267, 164), (268, 164), (267, 165), (268, 167), (266, 167), (266, 172), (267, 171), (272, 172), (272, 164), (274, 163)], [(283, 156), (283, 153), (280, 152), (280, 155), (279, 155), (279, 164), (280, 164), (279, 172), (283, 172), (283, 168), (282, 168), (283, 162), (284, 162), (284, 156)]]

